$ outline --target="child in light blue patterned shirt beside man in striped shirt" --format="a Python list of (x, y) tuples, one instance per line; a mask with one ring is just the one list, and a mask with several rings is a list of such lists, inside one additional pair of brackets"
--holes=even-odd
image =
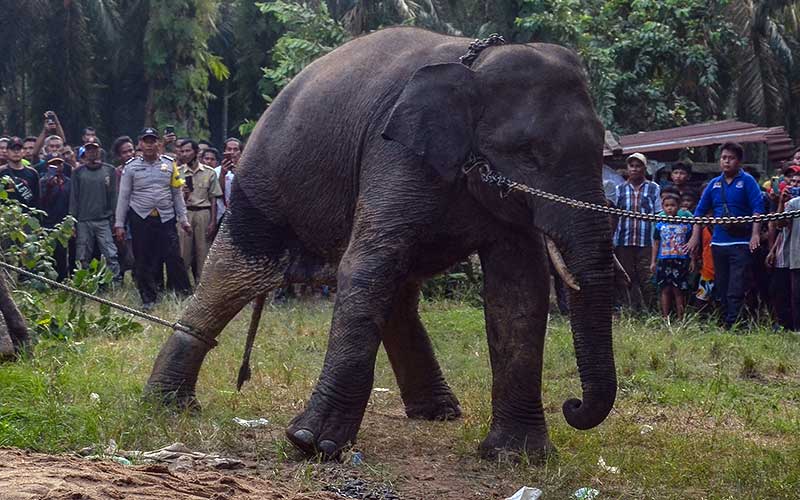
[[(678, 195), (667, 193), (661, 204), (666, 215), (678, 215)], [(694, 257), (689, 256), (685, 248), (691, 234), (691, 224), (658, 222), (655, 225), (650, 271), (656, 276), (661, 294), (661, 315), (664, 318), (669, 317), (674, 304), (678, 319), (683, 319), (686, 309), (684, 293), (689, 290), (688, 275), (695, 265)]]

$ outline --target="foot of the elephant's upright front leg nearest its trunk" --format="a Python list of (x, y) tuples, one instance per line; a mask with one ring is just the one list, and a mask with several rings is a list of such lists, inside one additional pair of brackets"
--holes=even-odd
[(492, 429), (480, 445), (481, 458), (502, 462), (521, 462), (524, 457), (532, 464), (544, 463), (557, 455), (546, 430), (511, 432)]

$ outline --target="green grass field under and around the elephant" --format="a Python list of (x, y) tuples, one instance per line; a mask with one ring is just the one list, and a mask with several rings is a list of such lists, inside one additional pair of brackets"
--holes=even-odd
[[(504, 498), (523, 485), (542, 489), (545, 498), (568, 498), (583, 486), (600, 490), (601, 498), (800, 497), (800, 336), (765, 327), (736, 335), (698, 319), (668, 326), (656, 318), (623, 316), (614, 328), (615, 410), (601, 426), (582, 432), (560, 414), (562, 402), (579, 395), (580, 383), (568, 322), (554, 317), (544, 400), (559, 455), (541, 466), (497, 464), (481, 462), (476, 453), (490, 416), (482, 310), (453, 302), (427, 302), (422, 309), (464, 417), (443, 423), (402, 418), (381, 351), (375, 386), (389, 392), (375, 392), (370, 401), (358, 443), (368, 466), (360, 474), (394, 485), (403, 498)], [(173, 300), (156, 313), (172, 318), (179, 310)], [(199, 416), (171, 415), (140, 401), (168, 335), (164, 328), (147, 325), (126, 338), (97, 332), (78, 342), (40, 343), (34, 359), (0, 365), (0, 446), (56, 453), (109, 439), (127, 450), (181, 441), (251, 457), (262, 474), (296, 481), (299, 489), (319, 489), (317, 472), (329, 466), (301, 460), (283, 428), (316, 381), (331, 305), (268, 307), (253, 354), (253, 379), (237, 393), (248, 312), (228, 326), (206, 360)], [(267, 417), (272, 425), (243, 431), (234, 416)], [(599, 467), (601, 456), (619, 472)], [(420, 486), (426, 478), (418, 470), (425, 467), (441, 472), (432, 490)], [(451, 490), (445, 491), (448, 484)], [(475, 493), (458, 496), (459, 488)]]

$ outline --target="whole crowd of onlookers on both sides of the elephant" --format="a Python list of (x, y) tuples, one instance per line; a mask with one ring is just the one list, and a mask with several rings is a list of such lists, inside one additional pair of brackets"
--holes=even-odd
[[(37, 137), (0, 137), (0, 178), (10, 198), (45, 213), (45, 227), (76, 219), (74, 238), (55, 250), (60, 280), (76, 261), (87, 266), (102, 256), (117, 281), (133, 271), (143, 307), (151, 309), (161, 291), (188, 295), (199, 281), (242, 150), (239, 139), (218, 149), (178, 138), (173, 127), (144, 128), (109, 150), (86, 127), (73, 146), (48, 111)], [(606, 191), (608, 203), (677, 217), (800, 210), (800, 148), (763, 185), (742, 169), (743, 159), (741, 145), (726, 143), (720, 175), (699, 185), (691, 166), (677, 162), (670, 182), (659, 185), (647, 178), (646, 156), (634, 153), (623, 180)], [(800, 218), (712, 227), (621, 217), (614, 225), (615, 255), (627, 273), (617, 283), (618, 308), (658, 304), (664, 317), (674, 311), (678, 318), (687, 306), (719, 310), (731, 328), (745, 307), (766, 305), (776, 327), (800, 330)]]

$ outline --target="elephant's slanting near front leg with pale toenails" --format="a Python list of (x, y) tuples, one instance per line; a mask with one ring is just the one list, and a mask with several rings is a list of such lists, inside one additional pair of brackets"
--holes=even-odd
[(335, 458), (354, 443), (372, 392), (380, 333), (405, 274), (399, 250), (351, 243), (339, 264), (338, 291), (319, 381), (286, 430), (308, 455)]

